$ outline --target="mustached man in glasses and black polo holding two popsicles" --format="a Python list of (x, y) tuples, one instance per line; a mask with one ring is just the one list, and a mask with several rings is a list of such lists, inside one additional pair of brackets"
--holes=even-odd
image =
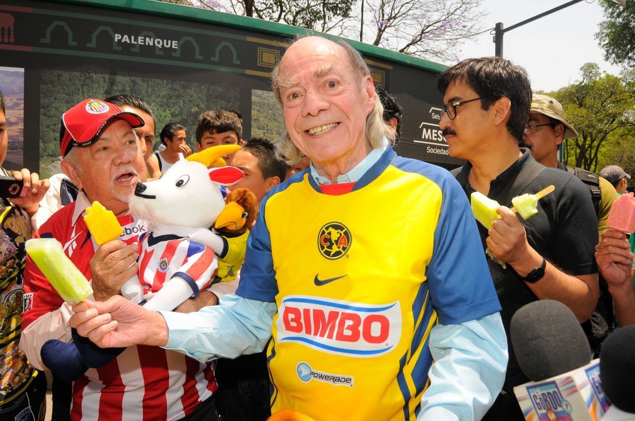
[[(458, 182), (468, 196), (479, 191), (502, 204), (491, 230), (479, 224), (483, 249), (495, 257), (488, 265), (509, 346), (503, 391), (483, 419), (524, 420), (513, 388), (529, 379), (509, 339), (512, 315), (529, 302), (553, 299), (580, 322), (591, 316), (598, 302), (597, 221), (582, 181), (519, 148), (531, 103), (525, 69), (500, 57), (471, 58), (439, 75), (438, 87), (446, 104), (439, 127), (448, 152), (467, 160), (455, 171)], [(555, 190), (540, 199), (534, 216), (524, 220), (509, 209), (512, 197), (549, 185)]]

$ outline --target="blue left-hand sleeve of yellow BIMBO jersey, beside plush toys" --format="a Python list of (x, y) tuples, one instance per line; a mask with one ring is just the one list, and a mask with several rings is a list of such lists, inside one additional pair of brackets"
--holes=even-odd
[(247, 239), (247, 251), (241, 268), (241, 278), (236, 295), (243, 298), (275, 302), (277, 295), (276, 271), (271, 256), (271, 236), (265, 222), (267, 198), (260, 205), (260, 212)]

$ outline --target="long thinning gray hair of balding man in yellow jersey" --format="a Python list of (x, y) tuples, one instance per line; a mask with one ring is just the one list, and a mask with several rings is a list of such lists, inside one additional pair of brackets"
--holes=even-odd
[[(301, 36), (296, 37), (293, 42), (298, 41), (298, 39), (302, 39), (308, 36), (320, 36), (319, 34), (302, 34)], [(328, 39), (323, 37), (324, 39)], [(291, 44), (293, 44), (291, 42)], [(351, 60), (352, 70), (355, 72), (358, 77), (358, 87), (361, 89), (361, 81), (364, 77), (370, 75), (370, 69), (366, 62), (364, 62), (364, 58), (359, 54), (359, 51), (352, 48), (350, 44), (344, 41), (333, 41), (335, 44), (338, 44), (347, 52), (349, 59)], [(280, 67), (280, 63), (274, 68), (272, 71), (272, 90), (274, 91), (274, 96), (276, 97), (276, 101), (278, 105), (282, 108), (282, 98), (280, 95), (280, 87), (284, 87), (284, 75), (279, 75), (278, 70)], [(382, 146), (382, 138), (388, 138), (391, 143), (394, 141), (394, 131), (392, 131), (391, 127), (388, 126), (384, 122), (384, 106), (382, 105), (382, 101), (380, 101), (379, 96), (375, 95), (375, 108), (366, 116), (366, 138), (368, 139), (368, 143), (371, 148), (379, 148)], [(281, 157), (286, 160), (287, 164), (293, 165), (299, 160), (301, 160), (304, 155), (297, 146), (293, 145), (293, 141), (291, 141), (291, 136), (286, 129), (286, 126), (283, 126), (283, 132), (280, 141), (277, 143), (277, 153), (281, 155)]]

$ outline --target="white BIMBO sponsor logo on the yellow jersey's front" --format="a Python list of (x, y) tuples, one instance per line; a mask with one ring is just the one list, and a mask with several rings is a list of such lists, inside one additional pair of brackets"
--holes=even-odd
[(277, 342), (296, 342), (331, 354), (374, 357), (401, 337), (399, 302), (372, 305), (305, 295), (285, 297), (276, 320)]

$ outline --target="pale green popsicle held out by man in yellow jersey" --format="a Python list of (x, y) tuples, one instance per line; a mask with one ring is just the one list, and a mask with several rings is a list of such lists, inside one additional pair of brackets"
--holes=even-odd
[(64, 254), (62, 244), (55, 238), (32, 238), (25, 243), (25, 249), (48, 282), (70, 306), (93, 294), (86, 277)]

